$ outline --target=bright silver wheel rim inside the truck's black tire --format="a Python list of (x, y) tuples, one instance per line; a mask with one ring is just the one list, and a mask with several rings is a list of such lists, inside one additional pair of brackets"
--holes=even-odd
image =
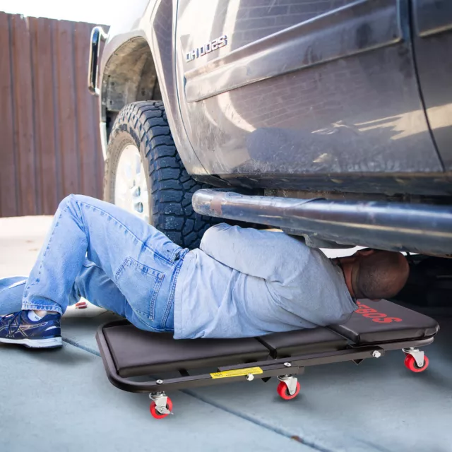
[(119, 156), (114, 180), (114, 203), (149, 222), (148, 183), (136, 145), (126, 145)]

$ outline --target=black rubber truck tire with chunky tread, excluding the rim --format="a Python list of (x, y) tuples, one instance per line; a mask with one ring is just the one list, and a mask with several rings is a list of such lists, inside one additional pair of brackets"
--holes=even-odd
[[(152, 204), (150, 223), (180, 246), (196, 248), (215, 220), (198, 215), (191, 206), (191, 196), (206, 184), (196, 182), (186, 172), (172, 139), (163, 102), (139, 101), (126, 105), (114, 121), (109, 143), (124, 130), (138, 141), (141, 155), (147, 160)], [(106, 174), (108, 162), (107, 150)]]

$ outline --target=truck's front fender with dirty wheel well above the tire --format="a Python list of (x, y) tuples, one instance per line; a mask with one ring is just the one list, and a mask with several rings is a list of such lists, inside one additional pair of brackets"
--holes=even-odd
[[(186, 133), (176, 86), (174, 5), (173, 1), (148, 0), (146, 11), (139, 19), (121, 26), (119, 33), (110, 31), (111, 37), (102, 54), (99, 84), (104, 157), (119, 110), (139, 100), (161, 100), (177, 153), (187, 172), (215, 186), (228, 185), (206, 172)], [(132, 67), (133, 71), (129, 71)]]

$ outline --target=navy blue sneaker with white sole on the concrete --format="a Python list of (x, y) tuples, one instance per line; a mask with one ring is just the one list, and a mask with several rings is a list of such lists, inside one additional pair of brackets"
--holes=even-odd
[(60, 315), (47, 314), (37, 321), (28, 317), (28, 311), (0, 316), (0, 343), (21, 344), (31, 348), (61, 347)]

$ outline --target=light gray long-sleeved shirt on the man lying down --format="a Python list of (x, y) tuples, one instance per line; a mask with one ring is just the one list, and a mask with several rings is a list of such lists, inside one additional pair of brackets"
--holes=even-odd
[(174, 338), (244, 338), (343, 323), (357, 309), (342, 270), (282, 232), (215, 225), (177, 278)]

